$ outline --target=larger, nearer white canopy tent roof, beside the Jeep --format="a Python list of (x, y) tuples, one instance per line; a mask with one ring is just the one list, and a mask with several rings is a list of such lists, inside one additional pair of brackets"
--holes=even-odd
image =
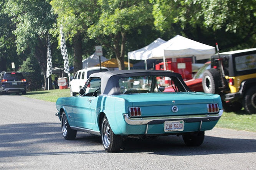
[(196, 56), (197, 60), (203, 60), (211, 58), (213, 54), (215, 54), (215, 47), (177, 35), (152, 50), (150, 59)]

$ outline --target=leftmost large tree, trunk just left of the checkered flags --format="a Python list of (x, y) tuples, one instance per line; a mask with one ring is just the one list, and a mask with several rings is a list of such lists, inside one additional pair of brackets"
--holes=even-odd
[(17, 26), (13, 31), (17, 52), (20, 54), (29, 49), (36, 56), (46, 88), (47, 33), (56, 21), (51, 5), (47, 0), (8, 0), (5, 5)]

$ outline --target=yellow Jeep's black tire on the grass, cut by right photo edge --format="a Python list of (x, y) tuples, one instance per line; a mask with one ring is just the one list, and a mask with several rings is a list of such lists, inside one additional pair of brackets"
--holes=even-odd
[(256, 88), (251, 87), (246, 91), (243, 99), (244, 110), (249, 114), (256, 113)]

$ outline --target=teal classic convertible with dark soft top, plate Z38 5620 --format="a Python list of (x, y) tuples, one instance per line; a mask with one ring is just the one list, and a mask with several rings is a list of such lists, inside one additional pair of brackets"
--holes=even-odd
[[(85, 94), (91, 81), (99, 87)], [(160, 70), (91, 74), (79, 96), (59, 98), (56, 108), (65, 139), (75, 139), (77, 131), (101, 135), (107, 152), (119, 151), (126, 138), (171, 134), (200, 146), (223, 113), (219, 95), (190, 92), (180, 74)]]

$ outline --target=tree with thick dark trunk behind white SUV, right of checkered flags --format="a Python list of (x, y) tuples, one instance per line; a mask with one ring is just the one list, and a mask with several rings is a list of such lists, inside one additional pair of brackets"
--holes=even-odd
[(82, 41), (94, 19), (96, 0), (52, 0), (51, 5), (58, 15), (55, 34), (59, 33), (59, 26), (62, 24), (63, 32), (73, 42), (75, 74), (83, 67), (82, 55), (85, 47), (82, 47)]

